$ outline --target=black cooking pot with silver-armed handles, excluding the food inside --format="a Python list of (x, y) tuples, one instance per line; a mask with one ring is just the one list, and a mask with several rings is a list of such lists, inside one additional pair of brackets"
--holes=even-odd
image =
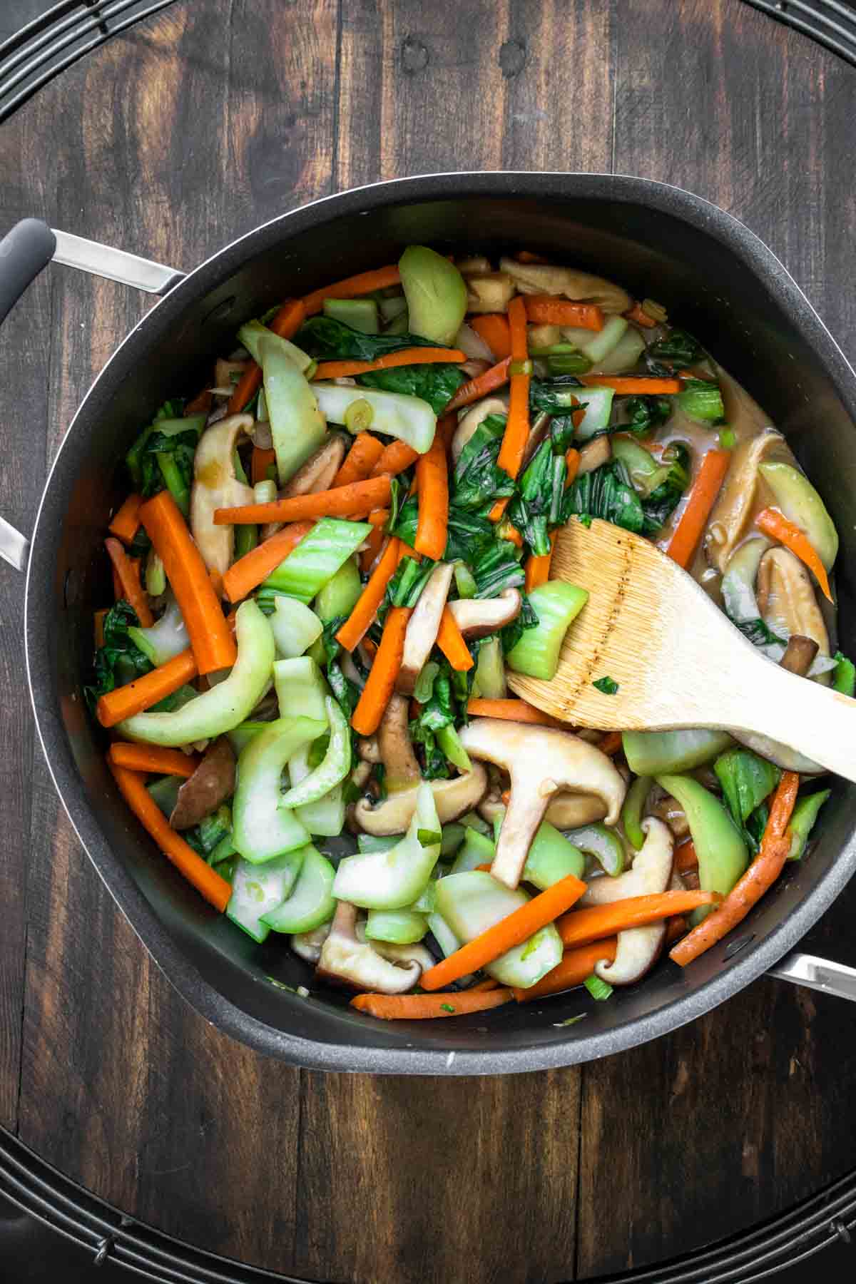
[[(835, 782), (810, 858), (739, 932), (685, 971), (584, 1009), (578, 995), (439, 1022), (376, 1022), (347, 998), (303, 999), (311, 971), (278, 940), (262, 946), (217, 915), (163, 859), (119, 797), (86, 714), (92, 611), (109, 600), (103, 551), (122, 494), (122, 457), (166, 398), (201, 385), (237, 325), (287, 295), (398, 258), (408, 243), (497, 256), (525, 245), (661, 299), (787, 434), (842, 539), (842, 646), (853, 651), (856, 376), (769, 249), (705, 200), (643, 178), (476, 173), (406, 178), (285, 214), (189, 276), (19, 225), (0, 247), (0, 317), (53, 256), (166, 298), (117, 349), (77, 412), (45, 487), (28, 557), (27, 669), (36, 723), (72, 823), (116, 901), (176, 989), (228, 1034), (284, 1061), (395, 1073), (499, 1073), (590, 1061), (708, 1011), (791, 950), (856, 868), (856, 788)], [(5, 302), (5, 308), (4, 308)], [(6, 528), (9, 560), (26, 541)], [(703, 681), (703, 660), (699, 663)], [(856, 749), (856, 746), (855, 746)], [(856, 996), (856, 971), (792, 955), (778, 975)], [(273, 978), (273, 981), (271, 980)], [(280, 982), (280, 984), (276, 984)]]

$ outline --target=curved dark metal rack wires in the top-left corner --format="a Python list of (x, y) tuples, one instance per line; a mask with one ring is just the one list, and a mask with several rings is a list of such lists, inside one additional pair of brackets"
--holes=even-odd
[(54, 76), (173, 0), (59, 0), (0, 45), (0, 123)]

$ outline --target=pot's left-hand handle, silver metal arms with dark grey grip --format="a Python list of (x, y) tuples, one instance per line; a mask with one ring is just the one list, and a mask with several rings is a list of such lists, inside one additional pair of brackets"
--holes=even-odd
[[(51, 231), (40, 218), (22, 218), (0, 241), (0, 321), (51, 259), (146, 294), (166, 294), (185, 275), (139, 254)], [(28, 552), (30, 541), (0, 517), (0, 557), (15, 570), (26, 570)]]

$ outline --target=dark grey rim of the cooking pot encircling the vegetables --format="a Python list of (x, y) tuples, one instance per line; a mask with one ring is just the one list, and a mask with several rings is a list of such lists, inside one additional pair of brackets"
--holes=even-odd
[[(572, 185), (572, 191), (569, 190)], [(714, 236), (760, 276), (770, 294), (792, 316), (809, 345), (829, 375), (848, 413), (856, 421), (856, 374), (814, 307), (784, 265), (744, 223), (720, 207), (683, 187), (633, 175), (579, 173), (562, 171), (450, 171), (367, 184), (321, 196), (309, 204), (261, 223), (207, 258), (155, 304), (116, 348), (76, 411), (45, 482), (32, 535), (24, 598), (24, 643), (27, 682), (39, 740), (47, 770), (89, 859), (132, 930), (172, 986), (203, 1017), (226, 1034), (258, 1052), (309, 1070), (406, 1075), (490, 1075), (554, 1070), (633, 1048), (694, 1021), (773, 967), (814, 926), (856, 872), (856, 835), (842, 849), (833, 867), (803, 901), (767, 935), (749, 941), (743, 957), (728, 971), (689, 987), (653, 1013), (635, 1017), (615, 1030), (586, 1035), (576, 1026), (565, 1040), (515, 1049), (443, 1050), (415, 1046), (359, 1048), (347, 1041), (327, 1043), (285, 1034), (250, 1016), (221, 995), (198, 972), (160, 922), (131, 876), (118, 864), (98, 823), (71, 752), (64, 725), (54, 707), (51, 665), (44, 646), (50, 619), (53, 571), (56, 565), (65, 493), (59, 482), (71, 482), (69, 443), (85, 422), (96, 389), (109, 383), (119, 360), (145, 356), (146, 335), (153, 325), (177, 316), (191, 297), (210, 289), (239, 268), (252, 253), (314, 225), (318, 218), (368, 213), (388, 204), (422, 203), (471, 196), (531, 198), (574, 196), (638, 203), (680, 218)], [(164, 312), (167, 313), (164, 317)], [(692, 976), (692, 968), (688, 969)], [(644, 1031), (644, 1032), (643, 1032)]]

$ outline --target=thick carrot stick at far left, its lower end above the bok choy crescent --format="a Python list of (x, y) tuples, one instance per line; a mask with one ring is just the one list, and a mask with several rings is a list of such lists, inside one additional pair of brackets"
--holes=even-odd
[(200, 673), (228, 669), (237, 659), (235, 638), (181, 510), (168, 490), (140, 508), (140, 521), (163, 562), (181, 609)]

